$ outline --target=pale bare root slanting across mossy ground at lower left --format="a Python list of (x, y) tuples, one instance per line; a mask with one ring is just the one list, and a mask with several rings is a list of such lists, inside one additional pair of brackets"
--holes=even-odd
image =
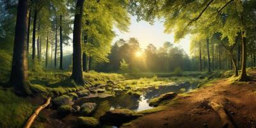
[(24, 126), (24, 128), (31, 127), (31, 125), (33, 124), (33, 122), (36, 119), (36, 116), (38, 116), (38, 114), (40, 113), (40, 111), (42, 111), (42, 109), (44, 109), (47, 106), (49, 106), (50, 103), (51, 103), (51, 97), (49, 97), (42, 106), (39, 106), (38, 108), (36, 108), (35, 112), (29, 117), (29, 119), (26, 122), (26, 125)]

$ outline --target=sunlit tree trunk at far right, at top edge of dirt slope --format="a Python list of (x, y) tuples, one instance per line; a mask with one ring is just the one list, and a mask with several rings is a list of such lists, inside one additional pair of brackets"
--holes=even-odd
[[(243, 20), (243, 18), (242, 18)], [(242, 31), (242, 68), (241, 68), (241, 74), (238, 79), (238, 81), (246, 81), (247, 75), (246, 75), (246, 35), (245, 31)]]

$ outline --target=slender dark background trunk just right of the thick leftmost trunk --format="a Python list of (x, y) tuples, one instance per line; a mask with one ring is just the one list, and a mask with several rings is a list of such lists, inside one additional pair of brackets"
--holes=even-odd
[(34, 21), (33, 21), (33, 36), (32, 36), (32, 60), (35, 60), (36, 54), (36, 19), (37, 11), (34, 11)]

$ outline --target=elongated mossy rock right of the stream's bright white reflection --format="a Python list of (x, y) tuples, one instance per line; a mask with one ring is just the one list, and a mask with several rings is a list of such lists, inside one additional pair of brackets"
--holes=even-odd
[(176, 96), (177, 96), (177, 93), (174, 93), (174, 92), (165, 93), (163, 95), (160, 95), (157, 98), (150, 100), (149, 106), (157, 107), (161, 102), (163, 102), (163, 100), (173, 99)]

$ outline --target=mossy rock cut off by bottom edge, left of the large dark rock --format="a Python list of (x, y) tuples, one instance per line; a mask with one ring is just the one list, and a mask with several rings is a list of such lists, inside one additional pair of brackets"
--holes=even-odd
[(77, 119), (77, 124), (79, 127), (93, 128), (99, 126), (99, 121), (93, 117), (80, 116)]

